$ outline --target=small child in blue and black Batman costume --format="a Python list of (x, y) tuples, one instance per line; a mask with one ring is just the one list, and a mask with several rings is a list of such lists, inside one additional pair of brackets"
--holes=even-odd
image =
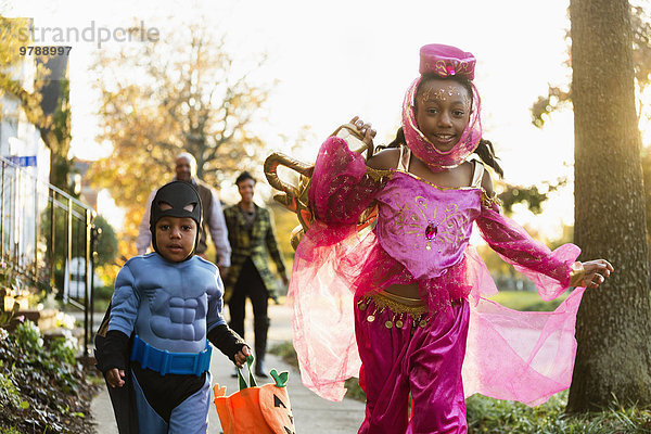
[(217, 267), (194, 255), (201, 200), (188, 182), (162, 187), (151, 207), (154, 252), (129, 259), (115, 280), (95, 339), (124, 433), (205, 433), (213, 343), (242, 366), (251, 349), (222, 315)]

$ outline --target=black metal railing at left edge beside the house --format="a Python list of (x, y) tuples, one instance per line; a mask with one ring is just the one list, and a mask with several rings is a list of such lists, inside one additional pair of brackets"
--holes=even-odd
[[(92, 336), (95, 212), (0, 157), (0, 240), (8, 292), (54, 293), (84, 311), (84, 352)], [(20, 295), (20, 294), (18, 294)]]

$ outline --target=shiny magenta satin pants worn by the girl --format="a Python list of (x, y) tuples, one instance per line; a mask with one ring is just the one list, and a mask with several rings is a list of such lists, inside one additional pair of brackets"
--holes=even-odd
[[(371, 314), (374, 319), (369, 321)], [(461, 366), (470, 317), (468, 302), (455, 303), (445, 314), (425, 314), (426, 323), (405, 316), (398, 328), (395, 317), (388, 308), (375, 309), (372, 299), (363, 310), (356, 304), (360, 384), (367, 394), (359, 434), (465, 434)]]

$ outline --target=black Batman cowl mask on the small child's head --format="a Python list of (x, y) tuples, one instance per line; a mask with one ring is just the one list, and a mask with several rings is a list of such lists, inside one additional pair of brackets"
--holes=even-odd
[[(169, 208), (163, 209), (161, 205), (167, 204)], [(200, 228), (201, 228), (201, 199), (196, 189), (186, 181), (173, 181), (161, 187), (152, 201), (152, 207), (150, 212), (150, 231), (152, 232), (152, 244), (154, 251), (158, 252), (156, 245), (156, 222), (163, 217), (188, 217), (196, 221), (196, 239), (194, 240), (194, 247), (188, 258), (192, 257), (196, 244), (199, 242)]]

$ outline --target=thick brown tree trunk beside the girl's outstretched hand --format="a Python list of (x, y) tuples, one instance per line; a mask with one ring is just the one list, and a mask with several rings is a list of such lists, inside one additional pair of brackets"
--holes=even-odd
[(615, 272), (587, 291), (567, 411), (651, 404), (651, 316), (630, 7), (571, 0), (575, 240)]

